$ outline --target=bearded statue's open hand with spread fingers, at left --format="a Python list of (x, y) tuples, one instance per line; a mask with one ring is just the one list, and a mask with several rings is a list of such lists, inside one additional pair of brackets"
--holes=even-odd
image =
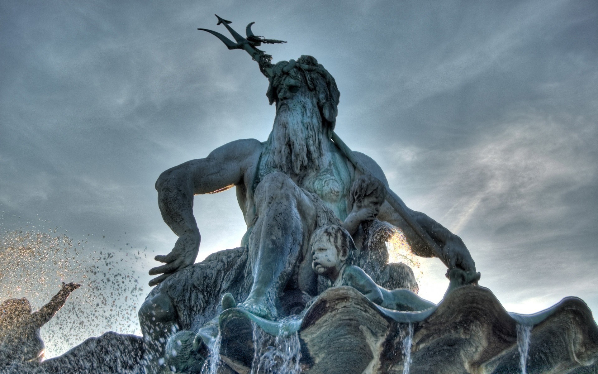
[(154, 260), (166, 264), (149, 269), (149, 275), (161, 274), (149, 281), (149, 285), (157, 285), (169, 275), (178, 272), (178, 270), (181, 270), (184, 267), (192, 265), (197, 257), (197, 251), (199, 251), (199, 243), (201, 240), (202, 236), (199, 234), (199, 231), (185, 233), (179, 236), (175, 248), (172, 248), (172, 251), (170, 251), (169, 254), (166, 256), (158, 255), (154, 257)]

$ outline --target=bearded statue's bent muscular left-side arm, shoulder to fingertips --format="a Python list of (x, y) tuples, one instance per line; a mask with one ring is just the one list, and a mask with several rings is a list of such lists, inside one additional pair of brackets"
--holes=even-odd
[(155, 257), (166, 264), (149, 270), (149, 275), (161, 274), (149, 285), (156, 285), (195, 262), (201, 235), (193, 215), (193, 195), (216, 193), (242, 184), (245, 172), (257, 164), (261, 147), (255, 139), (237, 140), (216, 148), (205, 159), (182, 163), (160, 175), (155, 183), (158, 206), (164, 222), (179, 239), (169, 254)]

